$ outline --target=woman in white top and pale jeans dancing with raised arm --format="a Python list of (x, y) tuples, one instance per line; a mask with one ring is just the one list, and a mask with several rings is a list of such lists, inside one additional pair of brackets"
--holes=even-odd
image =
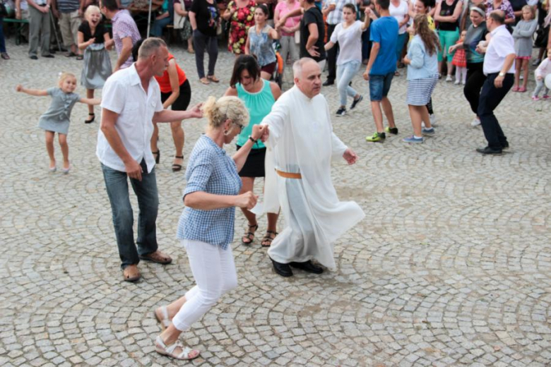
[(362, 22), (356, 19), (356, 7), (353, 4), (345, 4), (343, 8), (343, 23), (339, 23), (331, 40), (326, 43), (325, 49), (331, 49), (337, 42), (340, 52), (337, 58), (337, 88), (340, 96), (340, 107), (337, 110), (337, 116), (346, 114), (346, 96), (354, 97), (350, 109), (354, 109), (356, 104), (363, 97), (350, 87), (349, 83), (362, 64), (362, 32), (369, 28), (369, 13), (371, 8), (365, 8), (365, 20)]

